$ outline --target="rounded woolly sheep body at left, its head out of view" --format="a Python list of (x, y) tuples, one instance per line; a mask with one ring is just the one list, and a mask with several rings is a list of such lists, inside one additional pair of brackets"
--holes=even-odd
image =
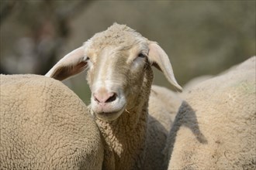
[(57, 80), (1, 75), (0, 169), (102, 169), (99, 129)]

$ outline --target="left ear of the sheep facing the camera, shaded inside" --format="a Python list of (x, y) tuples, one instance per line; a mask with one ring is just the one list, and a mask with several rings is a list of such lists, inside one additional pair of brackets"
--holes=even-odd
[(81, 46), (64, 56), (45, 76), (56, 80), (67, 79), (69, 76), (74, 76), (85, 70), (87, 67), (85, 59), (84, 48)]

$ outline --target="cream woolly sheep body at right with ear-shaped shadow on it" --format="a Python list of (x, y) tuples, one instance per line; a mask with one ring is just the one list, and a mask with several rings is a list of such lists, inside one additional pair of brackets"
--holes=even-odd
[(190, 89), (171, 128), (168, 169), (256, 168), (256, 57)]

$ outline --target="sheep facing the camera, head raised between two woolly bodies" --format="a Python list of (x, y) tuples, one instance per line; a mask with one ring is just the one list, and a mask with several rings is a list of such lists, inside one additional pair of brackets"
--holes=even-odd
[[(147, 111), (153, 80), (151, 66), (161, 70), (177, 90), (182, 90), (168, 55), (157, 42), (114, 23), (64, 56), (45, 75), (64, 80), (88, 70), (90, 110), (102, 134), (105, 169), (162, 169), (161, 150), (166, 132), (157, 120), (154, 127), (148, 124), (149, 119), (154, 120)], [(148, 134), (152, 131), (156, 136)], [(153, 141), (160, 142), (161, 148), (149, 149)]]

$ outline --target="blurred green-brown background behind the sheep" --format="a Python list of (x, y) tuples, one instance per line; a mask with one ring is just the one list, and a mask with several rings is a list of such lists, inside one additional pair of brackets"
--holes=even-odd
[[(157, 41), (181, 85), (255, 55), (255, 0), (0, 2), (0, 59), (5, 74), (43, 75), (113, 22)], [(159, 71), (154, 73), (154, 84), (172, 88)], [(85, 73), (64, 83), (89, 103)]]

